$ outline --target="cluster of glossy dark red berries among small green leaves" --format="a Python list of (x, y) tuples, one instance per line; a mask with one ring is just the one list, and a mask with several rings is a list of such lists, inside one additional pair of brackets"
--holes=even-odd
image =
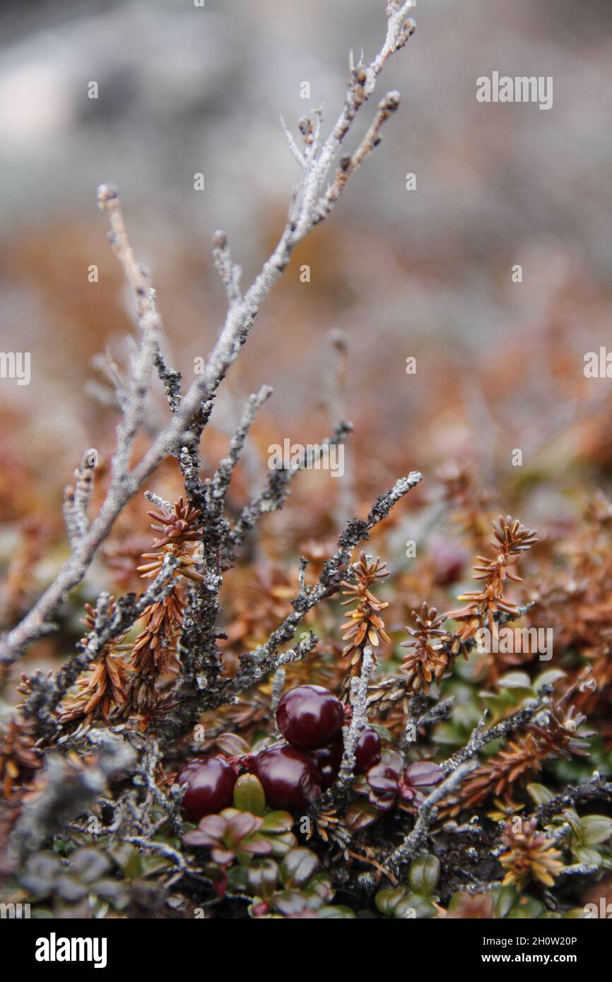
[[(321, 685), (298, 685), (278, 704), (276, 722), (286, 743), (240, 758), (241, 766), (260, 781), (267, 804), (299, 813), (330, 788), (338, 776), (344, 742), (345, 707)], [(365, 774), (380, 761), (380, 737), (364, 727), (356, 750), (356, 773)], [(183, 814), (198, 822), (228, 807), (237, 780), (235, 762), (197, 757), (179, 775), (186, 786)]]

